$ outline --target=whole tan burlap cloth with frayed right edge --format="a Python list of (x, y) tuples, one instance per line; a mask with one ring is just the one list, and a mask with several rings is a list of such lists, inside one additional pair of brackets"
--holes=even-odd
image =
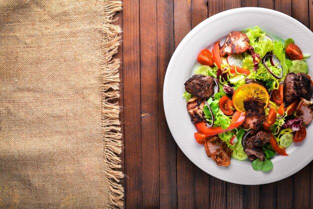
[(123, 206), (120, 8), (0, 1), (0, 208)]

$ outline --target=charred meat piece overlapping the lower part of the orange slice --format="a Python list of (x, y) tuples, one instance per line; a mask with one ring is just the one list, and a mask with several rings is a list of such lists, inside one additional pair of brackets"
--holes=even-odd
[(242, 127), (258, 130), (265, 120), (265, 103), (254, 98), (246, 98), (243, 106), (246, 112)]

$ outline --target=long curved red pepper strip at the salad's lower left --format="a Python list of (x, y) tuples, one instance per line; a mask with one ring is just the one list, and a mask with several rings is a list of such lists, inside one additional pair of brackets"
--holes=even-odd
[(239, 125), (242, 124), (244, 117), (245, 116), (243, 112), (236, 111), (232, 115), (232, 119), (229, 124), (229, 127), (227, 127), (226, 129), (221, 129), (220, 126), (219, 127), (206, 127), (205, 122), (196, 122), (195, 128), (197, 129), (198, 132), (203, 133), (207, 136), (216, 135), (216, 134), (223, 133), (223, 132), (226, 132), (227, 130), (231, 130), (233, 128), (238, 127)]

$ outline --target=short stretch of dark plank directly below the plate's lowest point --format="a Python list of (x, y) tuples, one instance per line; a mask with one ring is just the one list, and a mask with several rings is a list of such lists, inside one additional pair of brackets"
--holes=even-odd
[(243, 196), (243, 208), (260, 208), (259, 207), (259, 185), (243, 185), (242, 196)]

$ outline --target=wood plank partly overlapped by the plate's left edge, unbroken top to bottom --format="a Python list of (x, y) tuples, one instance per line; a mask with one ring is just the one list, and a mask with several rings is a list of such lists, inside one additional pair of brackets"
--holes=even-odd
[(174, 52), (173, 2), (157, 0), (158, 138), (160, 208), (177, 208), (176, 143), (168, 129), (163, 110), (163, 82)]

